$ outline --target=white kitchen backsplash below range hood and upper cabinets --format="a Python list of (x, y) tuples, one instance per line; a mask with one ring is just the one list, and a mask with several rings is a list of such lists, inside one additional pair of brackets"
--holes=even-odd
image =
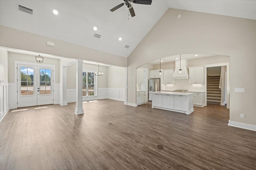
[(176, 79), (174, 84), (162, 84), (162, 90), (204, 91), (204, 84), (189, 84), (188, 79)]

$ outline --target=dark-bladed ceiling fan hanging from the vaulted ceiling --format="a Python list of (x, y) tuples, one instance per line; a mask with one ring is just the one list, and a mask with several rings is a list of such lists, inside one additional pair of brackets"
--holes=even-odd
[(112, 8), (110, 11), (114, 12), (115, 10), (117, 10), (118, 8), (126, 5), (127, 8), (129, 8), (129, 11), (131, 13), (131, 16), (134, 17), (135, 16), (135, 12), (133, 10), (133, 4), (145, 4), (145, 5), (151, 5), (152, 0), (124, 0), (124, 2), (122, 4), (119, 4), (118, 6), (115, 6), (114, 8)]

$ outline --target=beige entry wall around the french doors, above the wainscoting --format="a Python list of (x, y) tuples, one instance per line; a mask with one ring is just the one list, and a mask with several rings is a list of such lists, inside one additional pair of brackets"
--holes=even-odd
[[(14, 61), (26, 61), (26, 62), (36, 63), (35, 56), (8, 52), (8, 80), (10, 83), (14, 83)], [(60, 77), (60, 72), (59, 72), (60, 60), (44, 57), (44, 64), (55, 65), (55, 81), (56, 81), (55, 83), (59, 83), (60, 82), (60, 78), (59, 78)]]

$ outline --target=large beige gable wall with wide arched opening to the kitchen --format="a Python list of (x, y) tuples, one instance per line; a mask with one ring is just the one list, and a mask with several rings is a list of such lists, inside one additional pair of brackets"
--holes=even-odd
[(145, 63), (178, 54), (225, 55), (230, 56), (230, 122), (256, 125), (255, 30), (256, 20), (169, 8), (128, 57), (129, 102), (136, 103), (134, 75)]

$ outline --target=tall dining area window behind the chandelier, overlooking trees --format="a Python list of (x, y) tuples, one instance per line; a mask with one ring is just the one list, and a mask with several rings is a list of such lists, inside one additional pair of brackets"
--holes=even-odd
[(96, 72), (83, 71), (83, 96), (96, 96)]

